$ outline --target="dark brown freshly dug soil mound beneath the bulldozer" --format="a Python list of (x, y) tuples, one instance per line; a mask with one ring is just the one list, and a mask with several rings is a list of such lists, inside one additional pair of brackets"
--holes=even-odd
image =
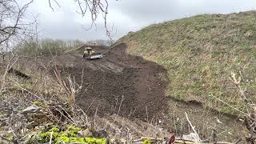
[[(74, 77), (82, 90), (76, 98), (87, 114), (119, 114), (146, 120), (167, 110), (166, 70), (154, 62), (126, 54), (126, 45), (97, 48), (104, 57), (82, 58), (82, 49), (55, 58), (64, 75)], [(105, 50), (105, 51), (104, 51)], [(49, 65), (49, 64), (48, 64)]]

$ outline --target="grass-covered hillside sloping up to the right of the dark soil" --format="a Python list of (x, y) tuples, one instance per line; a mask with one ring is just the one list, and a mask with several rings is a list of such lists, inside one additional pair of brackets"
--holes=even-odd
[(157, 62), (168, 71), (166, 94), (236, 113), (215, 97), (245, 110), (230, 74), (241, 75), (246, 95), (256, 99), (256, 12), (204, 14), (154, 24), (118, 40), (130, 54)]

